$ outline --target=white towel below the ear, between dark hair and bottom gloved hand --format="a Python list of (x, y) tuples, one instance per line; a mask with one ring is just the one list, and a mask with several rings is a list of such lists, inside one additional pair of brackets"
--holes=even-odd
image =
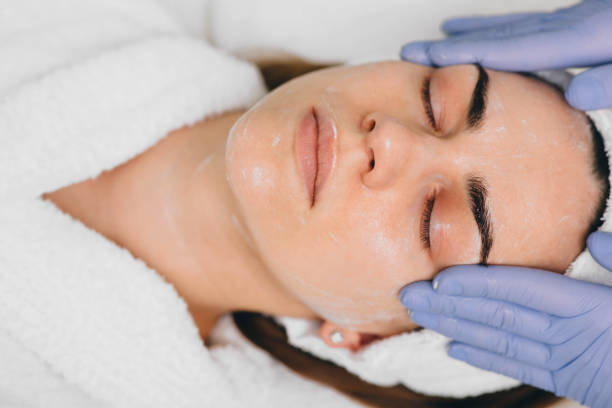
[(403, 384), (426, 395), (463, 398), (501, 391), (518, 381), (472, 367), (446, 354), (449, 339), (432, 330), (403, 333), (352, 352), (331, 348), (314, 320), (277, 317), (289, 343), (381, 386)]

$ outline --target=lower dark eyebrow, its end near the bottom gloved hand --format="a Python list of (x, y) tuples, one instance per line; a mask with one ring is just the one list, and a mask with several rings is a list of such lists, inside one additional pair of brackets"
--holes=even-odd
[(487, 184), (477, 175), (467, 177), (466, 190), (470, 200), (470, 210), (480, 234), (480, 265), (487, 265), (487, 258), (493, 247), (493, 228), (489, 214)]

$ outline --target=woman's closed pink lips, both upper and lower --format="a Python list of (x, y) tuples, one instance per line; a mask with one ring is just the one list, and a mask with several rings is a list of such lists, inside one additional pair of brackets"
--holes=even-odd
[(335, 162), (335, 126), (323, 111), (310, 109), (298, 125), (295, 150), (310, 206), (316, 203)]

